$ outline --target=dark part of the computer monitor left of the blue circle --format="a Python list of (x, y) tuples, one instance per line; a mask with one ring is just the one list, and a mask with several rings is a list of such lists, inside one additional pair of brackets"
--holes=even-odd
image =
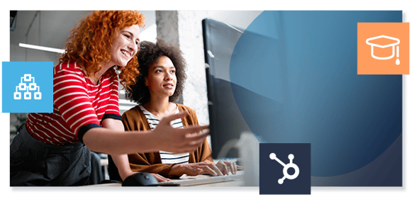
[[(228, 79), (230, 57), (242, 31), (225, 23), (203, 20), (204, 55), (208, 64), (206, 68), (208, 111), (211, 133), (213, 133), (211, 146), (215, 159), (238, 157), (234, 142), (242, 131), (250, 130), (245, 121), (240, 121), (244, 118), (231, 94), (231, 82)], [(220, 133), (220, 131), (225, 132)], [(226, 143), (228, 146), (225, 145)], [(223, 146), (229, 148), (224, 148), (220, 152)]]

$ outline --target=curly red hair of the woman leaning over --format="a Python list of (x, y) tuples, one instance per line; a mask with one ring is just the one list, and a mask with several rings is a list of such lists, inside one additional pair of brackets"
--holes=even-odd
[[(109, 51), (118, 32), (133, 25), (145, 26), (144, 18), (138, 11), (94, 11), (71, 31), (66, 52), (59, 62), (76, 60), (90, 77), (101, 69), (101, 63), (111, 61)], [(123, 86), (135, 84), (135, 77), (139, 74), (137, 67), (138, 60), (134, 56), (125, 67), (119, 68)], [(116, 75), (116, 72), (108, 69), (106, 74)]]

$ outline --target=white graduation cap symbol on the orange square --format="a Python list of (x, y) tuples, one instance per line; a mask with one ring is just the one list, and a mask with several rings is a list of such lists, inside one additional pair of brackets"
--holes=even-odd
[[(369, 41), (376, 41), (379, 40), (381, 38), (386, 38), (386, 40), (388, 41), (388, 43), (386, 45), (384, 45), (384, 43), (378, 44), (378, 43), (370, 43)], [(389, 43), (389, 42), (392, 43)], [(376, 60), (389, 60), (391, 58), (393, 58), (396, 55), (396, 45), (398, 45), (400, 43), (400, 39), (398, 38), (393, 38), (387, 35), (379, 35), (376, 37), (372, 37), (372, 38), (368, 38), (366, 41), (367, 45), (371, 45), (371, 56), (376, 59)], [(386, 48), (386, 47), (392, 47), (393, 48), (393, 55), (390, 55), (388, 57), (376, 57), (374, 55), (374, 47), (380, 47), (380, 48)], [(400, 47), (397, 46), (397, 60), (396, 60), (396, 64), (399, 65), (400, 64), (400, 60), (398, 60), (398, 57), (400, 56)]]

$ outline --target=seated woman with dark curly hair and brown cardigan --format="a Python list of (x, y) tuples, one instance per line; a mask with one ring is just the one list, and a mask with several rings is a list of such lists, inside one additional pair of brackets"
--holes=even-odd
[[(186, 63), (178, 47), (165, 43), (142, 42), (138, 56), (140, 75), (136, 84), (130, 86), (128, 96), (139, 103), (123, 113), (125, 130), (150, 130), (157, 128), (160, 119), (186, 111), (188, 116), (172, 121), (174, 128), (198, 125), (196, 112), (174, 101), (181, 95), (186, 79)], [(167, 131), (168, 132), (168, 131)], [(164, 134), (162, 134), (164, 135)], [(173, 143), (173, 142), (169, 142)], [(194, 152), (173, 154), (172, 152), (147, 152), (128, 154), (128, 171), (152, 173), (158, 181), (169, 181), (183, 174), (198, 175), (235, 174), (237, 165), (233, 162), (213, 163), (207, 140)], [(125, 170), (125, 169), (123, 169)]]

